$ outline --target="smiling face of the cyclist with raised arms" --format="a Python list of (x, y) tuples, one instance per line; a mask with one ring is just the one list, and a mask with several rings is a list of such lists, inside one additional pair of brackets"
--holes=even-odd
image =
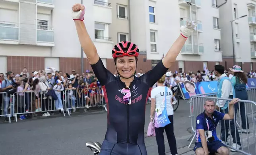
[(136, 70), (136, 59), (135, 57), (118, 57), (116, 59), (116, 69), (120, 76), (129, 78)]

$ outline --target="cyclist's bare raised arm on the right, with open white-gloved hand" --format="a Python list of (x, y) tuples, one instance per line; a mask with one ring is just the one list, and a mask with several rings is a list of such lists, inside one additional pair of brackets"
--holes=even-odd
[(170, 68), (173, 63), (175, 63), (178, 54), (180, 53), (183, 45), (185, 44), (186, 40), (189, 36), (195, 31), (196, 25), (193, 21), (187, 21), (186, 26), (180, 27), (180, 36), (178, 39), (173, 43), (171, 48), (169, 49), (168, 53), (162, 59), (163, 65), (166, 68)]

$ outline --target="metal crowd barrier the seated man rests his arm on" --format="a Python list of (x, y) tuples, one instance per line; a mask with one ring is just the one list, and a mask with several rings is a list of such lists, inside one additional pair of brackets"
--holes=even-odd
[[(254, 88), (248, 89), (249, 93), (252, 90), (255, 90), (255, 89)], [(210, 94), (208, 94), (208, 95), (210, 95)], [(211, 95), (214, 96), (214, 93)], [(224, 100), (224, 102), (225, 101), (230, 102), (232, 100), (232, 99), (217, 98), (217, 97), (213, 97), (213, 96), (207, 96), (207, 94), (206, 94), (206, 95), (195, 95), (195, 96), (190, 97), (189, 102), (190, 102), (191, 128), (192, 128), (192, 131), (194, 132), (194, 135), (192, 135), (190, 138), (188, 138), (188, 140), (190, 140), (192, 138), (188, 147), (191, 146), (192, 142), (194, 141), (194, 138), (196, 137), (196, 117), (200, 113), (204, 112), (205, 100), (212, 99), (215, 101), (215, 103), (217, 102), (217, 100)], [(250, 100), (239, 100), (239, 102), (237, 104), (235, 104), (235, 106), (237, 108), (237, 112), (235, 111), (234, 116), (236, 116), (238, 113), (238, 115), (240, 117), (234, 117), (235, 122), (239, 121), (237, 123), (234, 123), (234, 128), (235, 129), (237, 128), (237, 126), (238, 126), (237, 124), (239, 124), (239, 127), (241, 127), (242, 123), (245, 123), (246, 130), (248, 130), (252, 134), (250, 134), (249, 132), (242, 132), (242, 130), (240, 130), (240, 132), (238, 132), (238, 130), (234, 130), (233, 128), (231, 129), (230, 121), (229, 121), (229, 125), (228, 125), (229, 126), (229, 134), (228, 134), (229, 138), (227, 138), (227, 134), (225, 134), (223, 139), (224, 140), (227, 139), (228, 142), (227, 143), (225, 142), (224, 144), (227, 147), (234, 149), (236, 151), (239, 151), (240, 153), (243, 153), (245, 155), (251, 155), (250, 152), (252, 153), (252, 155), (255, 155), (256, 154), (256, 136), (255, 136), (256, 130), (254, 127), (254, 124), (255, 124), (254, 123), (254, 118), (255, 118), (254, 114), (256, 113), (256, 102), (250, 101)], [(244, 107), (244, 111), (243, 111), (244, 113), (241, 113), (241, 110), (240, 110), (241, 107)], [(234, 110), (236, 108), (234, 108)], [(247, 117), (243, 118), (241, 116), (243, 116), (243, 117), (247, 116)], [(242, 122), (242, 119), (243, 119), (243, 122)], [(249, 124), (249, 126), (247, 126), (247, 123)], [(224, 123), (224, 129), (225, 129), (225, 131), (223, 130), (224, 133), (227, 133), (226, 132), (226, 124), (227, 123)], [(219, 132), (218, 138), (222, 139), (221, 138), (221, 136), (222, 136), (221, 135), (221, 121), (219, 121), (219, 130), (216, 128), (216, 131), (217, 131), (217, 133)], [(237, 132), (239, 133), (241, 147), (242, 147), (241, 150), (236, 149), (235, 147), (233, 147), (231, 145), (231, 134), (232, 134), (231, 132), (233, 132), (233, 134), (235, 132), (235, 137), (232, 137), (233, 139), (235, 138), (234, 144), (237, 144)], [(246, 138), (244, 138), (244, 137), (246, 137)], [(245, 142), (245, 141), (247, 141), (247, 142)], [(250, 146), (252, 146), (252, 145), (254, 145), (254, 150), (250, 150), (251, 149)], [(246, 149), (246, 148), (248, 148), (248, 152), (244, 151), (244, 149)]]

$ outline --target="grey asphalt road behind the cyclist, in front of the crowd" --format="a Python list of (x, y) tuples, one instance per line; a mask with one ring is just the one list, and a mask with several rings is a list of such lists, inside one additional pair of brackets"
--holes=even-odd
[[(149, 112), (150, 105), (147, 105), (145, 131), (149, 123)], [(188, 115), (189, 104), (181, 100), (173, 122), (179, 155), (194, 154), (191, 151), (193, 146), (187, 148), (187, 138), (191, 136)], [(103, 142), (106, 130), (105, 111), (76, 112), (66, 117), (54, 115), (12, 123), (4, 122), (0, 123), (0, 155), (92, 155), (85, 143)], [(148, 155), (157, 155), (155, 138), (145, 138), (145, 144)], [(170, 155), (167, 143), (165, 146), (167, 155)]]

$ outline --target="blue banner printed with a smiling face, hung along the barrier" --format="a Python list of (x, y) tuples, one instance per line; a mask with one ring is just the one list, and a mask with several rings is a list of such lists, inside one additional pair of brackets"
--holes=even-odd
[[(217, 93), (217, 81), (204, 81), (193, 83), (191, 81), (184, 81), (180, 84), (184, 99), (189, 99), (192, 95)], [(256, 87), (256, 78), (249, 78), (246, 88)]]

